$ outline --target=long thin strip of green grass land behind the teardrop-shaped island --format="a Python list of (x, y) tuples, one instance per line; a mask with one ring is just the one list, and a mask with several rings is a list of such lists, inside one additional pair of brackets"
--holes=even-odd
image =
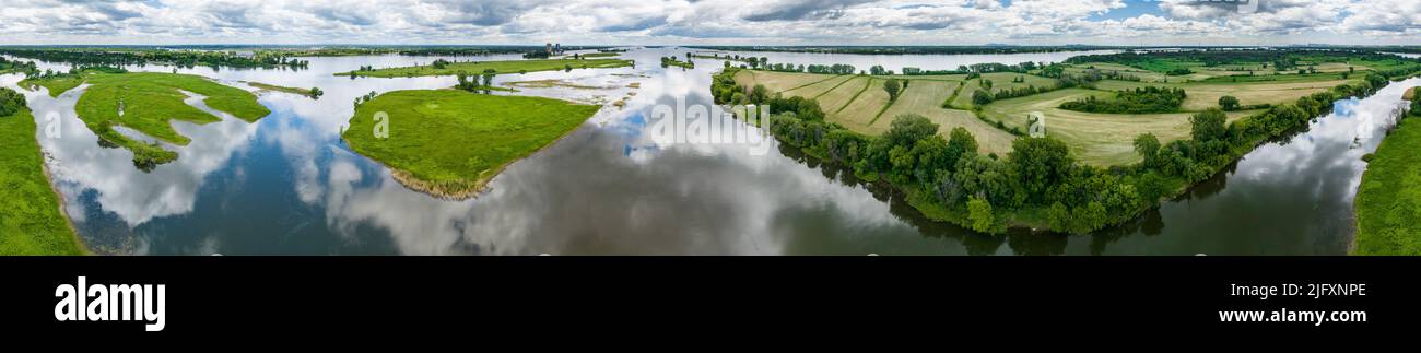
[(450, 63), (443, 68), (435, 68), (433, 65), (415, 65), (415, 67), (389, 67), (377, 68), (372, 71), (347, 71), (338, 73), (335, 75), (355, 75), (364, 77), (419, 77), (419, 75), (455, 75), (459, 71), (468, 74), (483, 74), (485, 70), (493, 70), (496, 74), (517, 74), (517, 73), (537, 73), (537, 71), (561, 71), (571, 67), (577, 68), (612, 68), (612, 67), (630, 67), (635, 63), (632, 60), (621, 58), (591, 58), (591, 60), (573, 60), (573, 58), (546, 58), (546, 60), (503, 60), (503, 61), (459, 61)]

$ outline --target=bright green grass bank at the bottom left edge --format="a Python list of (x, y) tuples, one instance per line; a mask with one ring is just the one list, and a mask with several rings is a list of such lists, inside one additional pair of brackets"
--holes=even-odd
[(81, 255), (44, 175), (30, 111), (0, 117), (0, 255)]

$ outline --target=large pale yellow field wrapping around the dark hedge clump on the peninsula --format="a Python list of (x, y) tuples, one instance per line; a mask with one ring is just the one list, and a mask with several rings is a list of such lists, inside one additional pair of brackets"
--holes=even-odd
[[(1155, 134), (1160, 142), (1189, 138), (1189, 115), (1175, 114), (1091, 114), (1060, 110), (1061, 102), (1088, 95), (1106, 97), (1110, 93), (1084, 88), (1059, 90), (1032, 97), (1003, 100), (989, 104), (983, 114), (1000, 120), (1007, 127), (1029, 128), (1027, 114), (1039, 111), (1046, 117), (1046, 134), (1060, 138), (1071, 148), (1071, 154), (1090, 165), (1125, 165), (1141, 158), (1134, 151), (1134, 139), (1140, 134)], [(1235, 121), (1259, 111), (1229, 112)]]

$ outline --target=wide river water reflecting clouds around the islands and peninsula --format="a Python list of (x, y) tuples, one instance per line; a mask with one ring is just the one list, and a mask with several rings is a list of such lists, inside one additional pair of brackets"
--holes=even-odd
[[(510, 165), (487, 194), (466, 201), (409, 191), (338, 138), (355, 97), (443, 88), (455, 78), (351, 80), (333, 73), (436, 57), (313, 57), (310, 70), (300, 71), (179, 68), (234, 87), (249, 88), (242, 81), (320, 87), (325, 95), (261, 93), (260, 102), (273, 114), (254, 124), (175, 122), (192, 144), (169, 147), (179, 159), (151, 172), (134, 168), (125, 149), (97, 144), (74, 114), (82, 88), (58, 98), (26, 94), (67, 212), (87, 245), (104, 253), (1336, 255), (1346, 253), (1351, 239), (1361, 155), (1376, 148), (1403, 87), (1421, 84), (1411, 80), (1367, 100), (1339, 101), (1333, 114), (1309, 130), (1263, 145), (1189, 195), (1128, 225), (1090, 236), (990, 236), (926, 221), (894, 192), (861, 185), (838, 168), (779, 145), (756, 155), (746, 145), (658, 144), (648, 137), (651, 107), (678, 100), (710, 104), (710, 74), (720, 63), (698, 60), (693, 70), (657, 65), (658, 57), (686, 51), (634, 50), (622, 56), (638, 65), (627, 68), (497, 77), (497, 83), (564, 80), (583, 88), (523, 88), (519, 94), (607, 107), (567, 138)], [(894, 61), (894, 56), (753, 54), (772, 63), (882, 64), (890, 70), (1071, 56), (905, 56)], [(0, 75), (4, 87), (14, 88), (18, 80)], [(630, 87), (634, 83), (639, 87)], [(610, 104), (621, 98), (625, 107)], [(58, 137), (48, 137), (48, 127)]]

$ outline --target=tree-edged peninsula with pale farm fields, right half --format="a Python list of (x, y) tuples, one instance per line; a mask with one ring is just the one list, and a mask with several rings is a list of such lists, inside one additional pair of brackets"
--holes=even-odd
[[(1047, 73), (1050, 67), (1054, 73)], [(928, 218), (993, 233), (1010, 226), (1086, 233), (1184, 192), (1268, 138), (1326, 114), (1337, 98), (1368, 95), (1387, 84), (1384, 75), (1361, 71), (1353, 80), (1289, 90), (1268, 97), (1268, 105), (1252, 105), (1258, 97), (1238, 93), (1255, 84), (1231, 83), (1229, 90), (1209, 93), (1226, 93), (1238, 100), (1226, 100), (1229, 105), (1256, 110), (1225, 112), (1218, 107), (1223, 95), (1205, 94), (1212, 101), (1189, 111), (1194, 84), (1151, 88), (1104, 74), (1069, 74), (1071, 67), (968, 75), (726, 68), (713, 77), (712, 94), (719, 104), (767, 104), (774, 112), (770, 132), (779, 139), (845, 165), (864, 181), (894, 185)], [(1056, 75), (1049, 90), (978, 98), (965, 110), (953, 104), (966, 93), (993, 97), (999, 90), (1022, 91), (1033, 80), (1053, 81), (1044, 75)], [(861, 84), (850, 84), (855, 80)], [(907, 83), (898, 100), (890, 80)], [(804, 94), (836, 81), (827, 93)], [(1107, 83), (1123, 88), (1098, 90)], [(756, 94), (762, 87), (769, 94)], [(1064, 110), (1077, 101), (1093, 102), (1080, 110), (1100, 112)], [(1023, 134), (1036, 122), (1032, 112), (1046, 118), (1044, 137)], [(872, 128), (880, 124), (885, 127)], [(982, 131), (989, 132), (976, 134)]]

